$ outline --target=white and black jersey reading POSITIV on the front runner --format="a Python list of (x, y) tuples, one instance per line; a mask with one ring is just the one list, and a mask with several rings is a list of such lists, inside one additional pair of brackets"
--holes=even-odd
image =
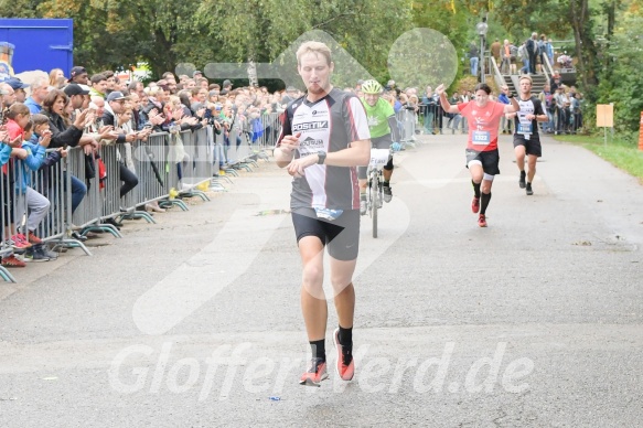
[[(296, 158), (319, 151), (332, 153), (349, 148), (352, 141), (371, 138), (360, 98), (335, 88), (315, 103), (307, 100), (306, 95), (291, 101), (281, 114), (281, 125), (277, 147), (283, 136), (301, 132)], [(292, 180), (290, 201), (291, 210), (358, 210), (356, 168), (310, 165), (304, 176)]]

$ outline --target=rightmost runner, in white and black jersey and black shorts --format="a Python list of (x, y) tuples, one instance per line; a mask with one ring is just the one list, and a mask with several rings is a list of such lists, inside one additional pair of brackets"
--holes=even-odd
[[(532, 183), (536, 175), (536, 160), (543, 154), (540, 137), (538, 135), (538, 122), (548, 121), (549, 118), (543, 110), (543, 103), (532, 96), (532, 77), (521, 76), (518, 81), (519, 98), (517, 99), (521, 109), (516, 113), (507, 114), (507, 118), (515, 118), (514, 151), (516, 153), (516, 165), (521, 171), (518, 185), (525, 189), (527, 195), (534, 194)], [(525, 154), (529, 171), (525, 173)], [(526, 183), (525, 183), (526, 176)]]

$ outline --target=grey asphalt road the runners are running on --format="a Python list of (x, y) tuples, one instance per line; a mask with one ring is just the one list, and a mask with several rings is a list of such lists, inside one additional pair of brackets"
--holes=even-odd
[(463, 137), (421, 139), (377, 239), (363, 217), (353, 382), (297, 383), (289, 176), (261, 163), (0, 283), (0, 426), (640, 426), (641, 184), (546, 138), (526, 196), (502, 136), (480, 228)]

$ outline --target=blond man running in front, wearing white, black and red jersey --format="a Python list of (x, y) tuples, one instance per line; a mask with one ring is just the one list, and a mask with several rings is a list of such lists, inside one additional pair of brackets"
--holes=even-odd
[(320, 386), (328, 377), (325, 331), (328, 306), (323, 253), (328, 245), (339, 328), (336, 372), (353, 378), (353, 272), (360, 244), (360, 189), (356, 165), (371, 161), (368, 124), (360, 99), (333, 88), (330, 49), (306, 42), (297, 51), (298, 72), (308, 89), (281, 115), (275, 159), (292, 180), (292, 223), (303, 263), (301, 310), (312, 350), (301, 385)]

